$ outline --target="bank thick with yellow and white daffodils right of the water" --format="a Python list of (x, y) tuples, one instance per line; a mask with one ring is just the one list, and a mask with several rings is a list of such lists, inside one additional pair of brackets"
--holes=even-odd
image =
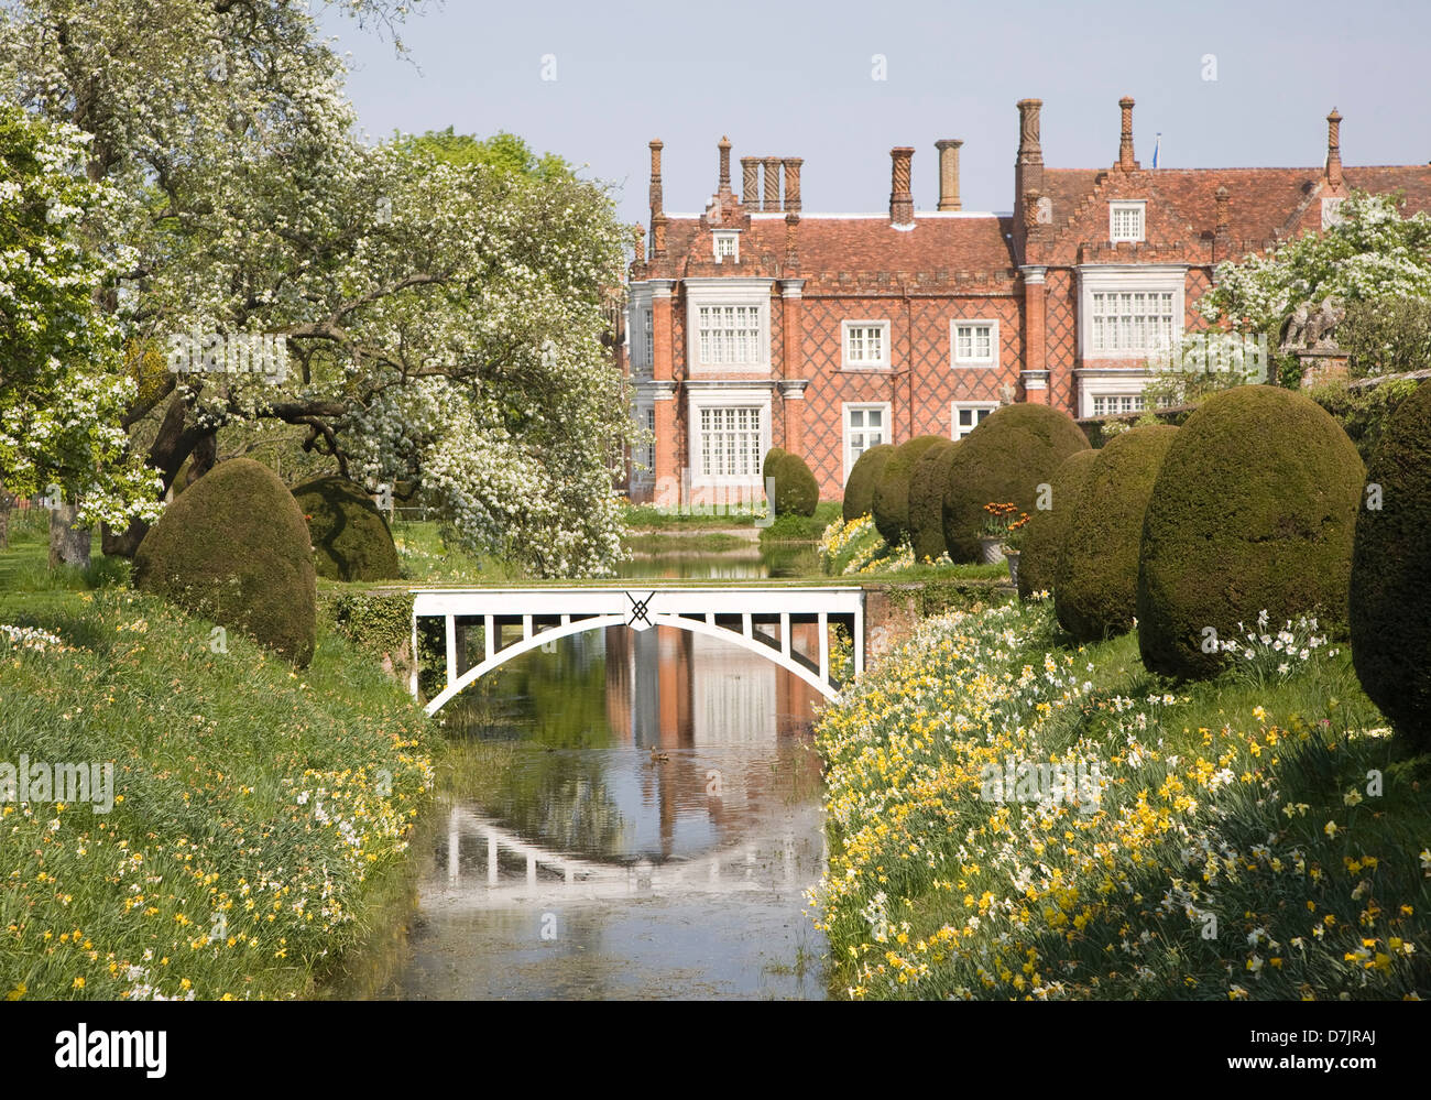
[(817, 730), (834, 991), (1428, 995), (1431, 759), (1305, 635), (1173, 688), (1047, 602), (924, 623)]

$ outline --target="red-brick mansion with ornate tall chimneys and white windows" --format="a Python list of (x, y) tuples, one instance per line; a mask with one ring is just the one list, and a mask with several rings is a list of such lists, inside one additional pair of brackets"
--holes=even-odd
[(798, 158), (741, 158), (737, 195), (723, 139), (704, 213), (667, 213), (651, 142), (621, 358), (655, 443), (631, 497), (748, 498), (770, 447), (839, 497), (864, 448), (957, 440), (1002, 402), (1139, 410), (1149, 357), (1201, 325), (1216, 264), (1321, 231), (1352, 189), (1431, 209), (1431, 166), (1342, 165), (1335, 110), (1319, 168), (1169, 169), (1136, 159), (1128, 97), (1109, 168), (1045, 166), (1040, 109), (1017, 105), (1012, 213), (962, 208), (953, 139), (934, 143), (934, 211), (914, 209), (912, 148), (890, 150), (887, 211), (816, 213)]

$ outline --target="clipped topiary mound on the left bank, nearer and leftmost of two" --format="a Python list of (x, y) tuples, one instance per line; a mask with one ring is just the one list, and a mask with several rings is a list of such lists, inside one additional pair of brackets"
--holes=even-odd
[(278, 476), (249, 458), (219, 463), (165, 510), (139, 544), (133, 583), (295, 665), (313, 656), (308, 524)]

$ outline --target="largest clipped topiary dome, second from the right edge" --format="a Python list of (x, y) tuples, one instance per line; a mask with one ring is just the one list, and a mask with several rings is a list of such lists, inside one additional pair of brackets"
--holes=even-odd
[(1361, 457), (1328, 412), (1275, 385), (1213, 394), (1178, 430), (1153, 483), (1138, 569), (1143, 665), (1216, 673), (1213, 642), (1266, 612), (1347, 622)]

